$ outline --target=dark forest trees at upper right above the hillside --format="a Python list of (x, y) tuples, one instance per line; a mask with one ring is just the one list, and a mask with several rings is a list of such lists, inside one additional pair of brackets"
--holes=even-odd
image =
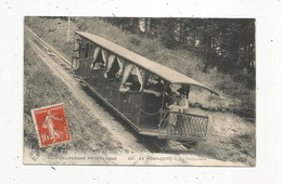
[[(185, 49), (204, 57), (202, 70), (217, 67), (245, 78), (255, 88), (255, 21), (246, 18), (103, 18), (124, 30), (155, 37), (171, 50)], [(246, 69), (248, 75), (242, 74)]]

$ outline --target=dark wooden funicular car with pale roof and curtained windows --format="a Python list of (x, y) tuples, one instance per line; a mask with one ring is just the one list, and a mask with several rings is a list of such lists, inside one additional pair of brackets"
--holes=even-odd
[(190, 86), (216, 91), (101, 37), (75, 34), (77, 75), (139, 134), (178, 141), (206, 139), (208, 117), (188, 110)]

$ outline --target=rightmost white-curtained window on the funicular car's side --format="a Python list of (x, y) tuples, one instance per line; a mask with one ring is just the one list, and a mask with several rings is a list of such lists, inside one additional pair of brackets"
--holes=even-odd
[(121, 86), (119, 88), (120, 92), (128, 91), (142, 91), (144, 71), (133, 64), (127, 64), (125, 66), (125, 71), (121, 80)]

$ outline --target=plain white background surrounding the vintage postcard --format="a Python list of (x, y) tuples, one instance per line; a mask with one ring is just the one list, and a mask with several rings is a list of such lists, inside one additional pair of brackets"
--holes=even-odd
[[(1, 1), (0, 160), (3, 183), (282, 183), (281, 0)], [(150, 5), (148, 5), (150, 4)], [(254, 17), (257, 24), (257, 166), (51, 167), (23, 165), (25, 15)], [(48, 180), (42, 180), (50, 175)]]

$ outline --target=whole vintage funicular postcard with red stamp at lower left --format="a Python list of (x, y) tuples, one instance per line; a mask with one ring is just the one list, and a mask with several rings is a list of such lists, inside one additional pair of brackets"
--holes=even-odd
[(254, 18), (24, 18), (24, 163), (256, 166)]

